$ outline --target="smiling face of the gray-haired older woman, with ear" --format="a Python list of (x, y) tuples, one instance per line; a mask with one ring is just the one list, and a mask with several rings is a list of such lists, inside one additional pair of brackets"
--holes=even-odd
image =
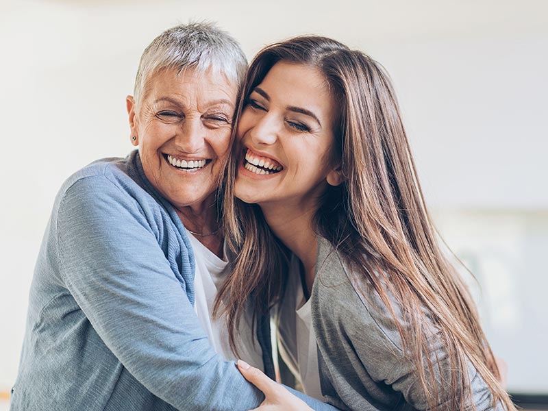
[(175, 208), (214, 199), (229, 147), (237, 86), (221, 75), (155, 75), (136, 105), (127, 99), (142, 168), (151, 184)]

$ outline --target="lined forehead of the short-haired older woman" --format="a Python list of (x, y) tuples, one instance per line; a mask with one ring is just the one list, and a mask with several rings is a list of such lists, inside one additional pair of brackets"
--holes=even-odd
[(192, 67), (180, 72), (177, 69), (162, 69), (147, 80), (143, 101), (171, 96), (202, 102), (224, 99), (234, 105), (237, 92), (238, 85), (222, 73), (198, 71)]

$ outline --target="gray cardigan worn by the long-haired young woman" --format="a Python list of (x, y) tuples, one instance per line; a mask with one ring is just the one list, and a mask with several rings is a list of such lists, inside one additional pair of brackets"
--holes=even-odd
[[(366, 279), (352, 275), (348, 264), (321, 237), (310, 299), (321, 389), (329, 403), (341, 410), (427, 409), (414, 364), (404, 356), (396, 323), (385, 304)], [(437, 357), (443, 370), (436, 379), (449, 384), (445, 349), (440, 340), (433, 340), (432, 347), (432, 362), (436, 364)], [(476, 409), (492, 410), (490, 390), (471, 364), (469, 375)]]

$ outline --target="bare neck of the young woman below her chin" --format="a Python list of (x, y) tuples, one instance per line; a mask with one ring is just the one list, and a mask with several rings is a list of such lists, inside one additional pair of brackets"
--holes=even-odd
[(312, 228), (314, 210), (297, 210), (283, 206), (261, 206), (266, 223), (272, 232), (303, 263), (308, 295), (316, 275), (316, 232)]

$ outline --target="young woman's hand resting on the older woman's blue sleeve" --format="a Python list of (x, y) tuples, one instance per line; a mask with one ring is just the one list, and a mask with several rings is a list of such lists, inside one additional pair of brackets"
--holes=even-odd
[(284, 386), (266, 377), (262, 371), (238, 360), (238, 369), (247, 381), (264, 393), (264, 401), (251, 411), (312, 411), (306, 403), (292, 395)]

